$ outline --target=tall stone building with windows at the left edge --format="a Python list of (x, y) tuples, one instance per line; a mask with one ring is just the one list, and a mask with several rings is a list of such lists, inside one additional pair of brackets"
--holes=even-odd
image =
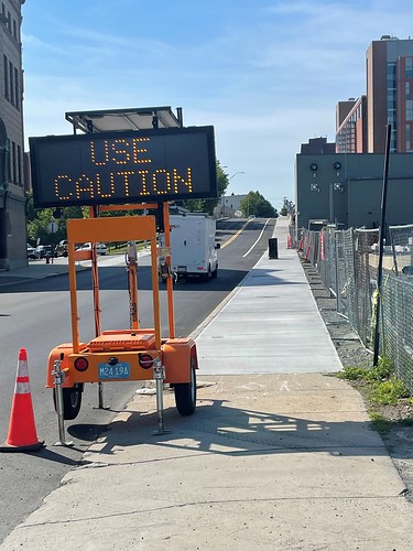
[(26, 266), (21, 23), (25, 0), (0, 2), (0, 269)]

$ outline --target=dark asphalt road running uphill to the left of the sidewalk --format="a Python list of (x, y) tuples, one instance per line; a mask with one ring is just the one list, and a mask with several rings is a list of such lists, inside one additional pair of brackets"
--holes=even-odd
[[(191, 334), (208, 314), (243, 279), (268, 248), (274, 220), (232, 219), (217, 225), (219, 251), (218, 278), (209, 281), (178, 283), (174, 290), (176, 336)], [(102, 327), (129, 327), (127, 274), (122, 260), (118, 266), (99, 270)], [(152, 326), (151, 279), (149, 259), (139, 264), (139, 309), (141, 326)], [(0, 281), (1, 282), (1, 281)], [(78, 274), (80, 337), (95, 336), (91, 309), (90, 273)], [(161, 292), (165, 303), (165, 292)], [(43, 498), (59, 485), (62, 477), (77, 465), (81, 454), (99, 434), (108, 430), (113, 417), (121, 411), (138, 388), (137, 382), (105, 385), (105, 406), (97, 406), (97, 386), (85, 387), (83, 406), (74, 421), (66, 421), (67, 437), (73, 447), (53, 444), (58, 440), (57, 420), (52, 391), (44, 388), (45, 366), (50, 350), (57, 344), (70, 342), (68, 278), (58, 276), (45, 280), (0, 285), (0, 441), (8, 433), (12, 392), (19, 348), (28, 349), (31, 392), (37, 435), (45, 447), (37, 453), (0, 454), (0, 542)], [(167, 320), (162, 317), (163, 335)]]

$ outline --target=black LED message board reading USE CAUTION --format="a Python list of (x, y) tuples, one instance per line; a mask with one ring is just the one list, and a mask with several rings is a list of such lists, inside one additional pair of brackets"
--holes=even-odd
[(30, 138), (34, 206), (217, 196), (214, 127)]

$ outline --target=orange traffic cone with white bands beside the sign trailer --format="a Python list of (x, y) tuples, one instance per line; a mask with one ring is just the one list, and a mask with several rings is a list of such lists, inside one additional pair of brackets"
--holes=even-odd
[(9, 435), (0, 452), (35, 452), (42, 446), (43, 442), (39, 442), (34, 424), (28, 354), (25, 348), (20, 348)]

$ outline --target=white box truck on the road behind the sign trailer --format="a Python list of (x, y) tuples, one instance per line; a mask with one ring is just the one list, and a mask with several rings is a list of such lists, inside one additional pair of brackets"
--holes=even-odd
[[(206, 214), (171, 215), (172, 271), (177, 278), (218, 274), (216, 222)], [(163, 237), (163, 236), (162, 236)], [(162, 245), (161, 239), (161, 245)]]

